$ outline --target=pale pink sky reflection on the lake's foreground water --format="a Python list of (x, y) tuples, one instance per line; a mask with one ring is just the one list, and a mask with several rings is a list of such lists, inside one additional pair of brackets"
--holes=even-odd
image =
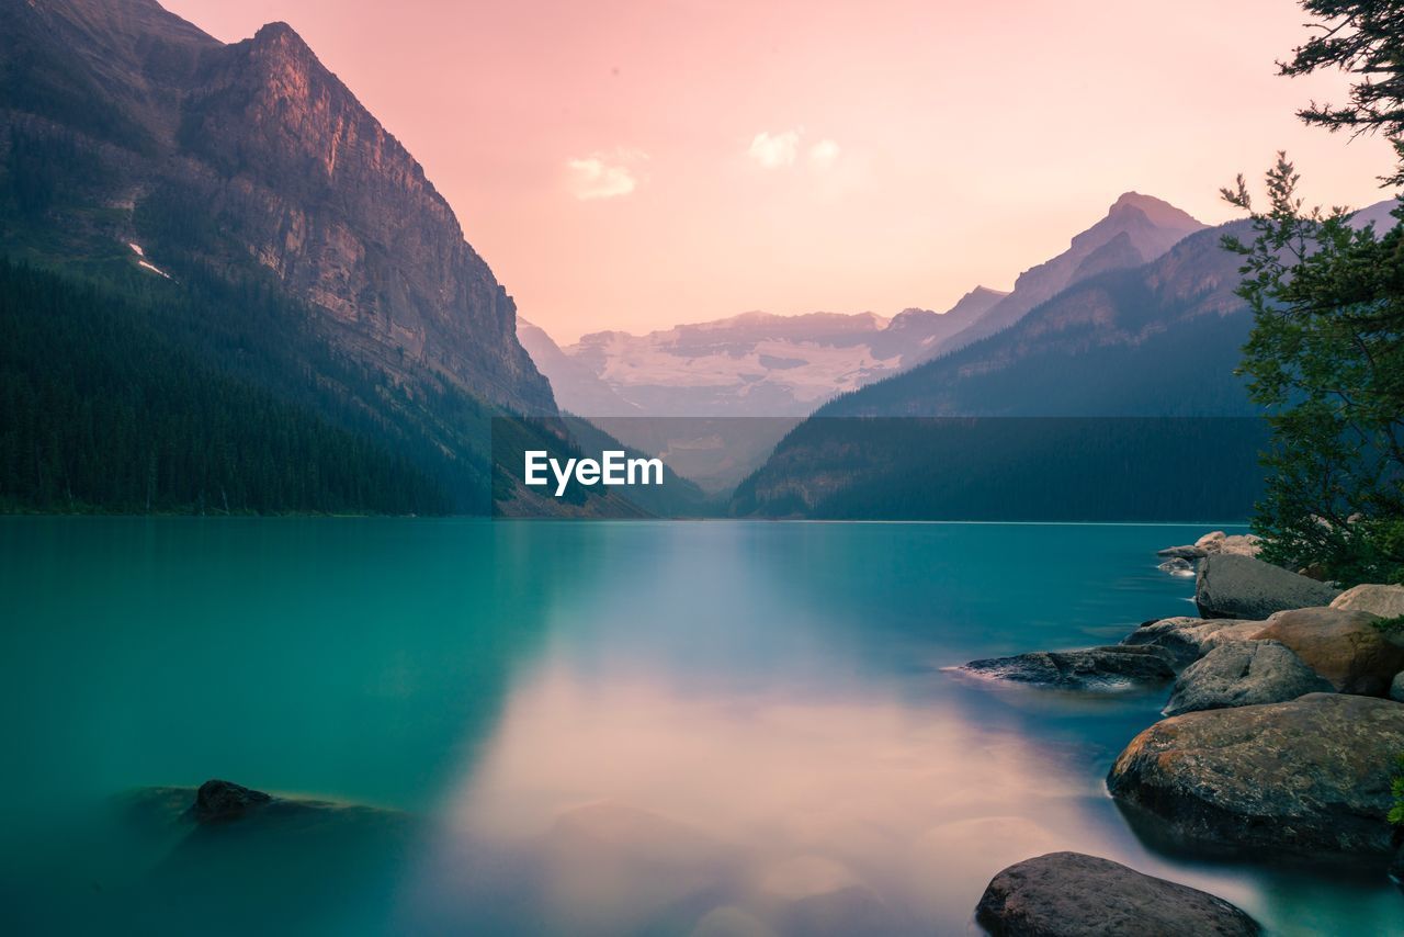
[(553, 669), (514, 694), (425, 875), (453, 891), (462, 843), (535, 853), (534, 923), (560, 933), (722, 909), (771, 930), (907, 931), (969, 917), (1012, 861), (1101, 846), (1068, 754), (892, 698), (722, 698)]

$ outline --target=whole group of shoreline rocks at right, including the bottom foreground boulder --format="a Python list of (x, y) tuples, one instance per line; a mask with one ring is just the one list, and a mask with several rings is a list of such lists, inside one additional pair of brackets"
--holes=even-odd
[[(1140, 836), (1191, 856), (1365, 867), (1404, 888), (1404, 827), (1389, 822), (1404, 756), (1404, 586), (1342, 591), (1258, 548), (1214, 531), (1160, 551), (1163, 572), (1195, 576), (1196, 617), (958, 670), (1078, 693), (1168, 687), (1165, 718), (1106, 777)], [(1221, 899), (1077, 853), (1001, 871), (976, 919), (993, 934), (1259, 931)]]

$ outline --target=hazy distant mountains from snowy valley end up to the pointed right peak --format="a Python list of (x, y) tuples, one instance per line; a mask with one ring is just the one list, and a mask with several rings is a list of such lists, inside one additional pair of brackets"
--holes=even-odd
[(804, 416), (834, 395), (1002, 332), (1071, 285), (1155, 260), (1203, 228), (1174, 205), (1126, 192), (1066, 251), (1021, 274), (1012, 292), (977, 287), (945, 313), (748, 312), (643, 336), (598, 332), (566, 348), (545, 334), (524, 341), (576, 413)]

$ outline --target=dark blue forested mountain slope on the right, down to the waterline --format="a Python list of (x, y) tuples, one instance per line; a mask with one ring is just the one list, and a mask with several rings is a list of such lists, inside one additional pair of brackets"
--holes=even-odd
[[(1353, 221), (1380, 230), (1393, 207)], [(1265, 437), (1234, 374), (1252, 316), (1234, 295), (1241, 261), (1221, 247), (1227, 233), (1248, 236), (1250, 225), (1081, 278), (997, 334), (830, 402), (739, 486), (731, 513), (1243, 516)], [(1167, 483), (1179, 458), (1210, 458), (1214, 485), (1179, 473)]]

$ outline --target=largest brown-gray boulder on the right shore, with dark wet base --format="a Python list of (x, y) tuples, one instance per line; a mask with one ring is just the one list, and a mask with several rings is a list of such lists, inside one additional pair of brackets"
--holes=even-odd
[(1163, 719), (1106, 787), (1157, 837), (1205, 851), (1386, 857), (1404, 705), (1313, 693)]

